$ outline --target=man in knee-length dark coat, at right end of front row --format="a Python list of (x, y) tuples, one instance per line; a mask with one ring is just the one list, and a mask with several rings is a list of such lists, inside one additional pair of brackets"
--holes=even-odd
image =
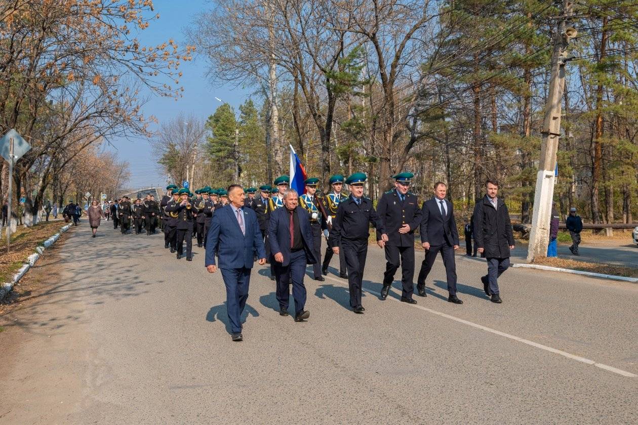
[(486, 182), (487, 194), (474, 206), (474, 241), (477, 251), (487, 258), (487, 275), (480, 278), (483, 290), (493, 303), (502, 303), (498, 278), (510, 266), (514, 234), (507, 205), (498, 199), (498, 182)]

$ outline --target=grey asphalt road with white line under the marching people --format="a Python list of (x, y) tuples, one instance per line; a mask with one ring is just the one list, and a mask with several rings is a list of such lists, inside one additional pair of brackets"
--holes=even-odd
[(306, 280), (308, 322), (280, 317), (256, 266), (234, 343), (203, 249), (187, 263), (159, 234), (100, 233), (71, 229), (47, 265), (59, 280), (0, 318), (0, 345), (15, 345), (0, 424), (638, 423), (638, 285), (510, 269), (496, 305), (485, 264), (457, 257), (464, 304), (447, 303), (437, 261), (412, 306), (399, 282), (375, 296), (385, 260), (371, 246), (366, 313), (331, 274)]

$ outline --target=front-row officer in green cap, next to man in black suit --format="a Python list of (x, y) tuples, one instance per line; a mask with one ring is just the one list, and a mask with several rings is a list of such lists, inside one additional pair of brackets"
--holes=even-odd
[(401, 301), (416, 304), (412, 298), (414, 292), (414, 231), (421, 224), (421, 208), (417, 196), (408, 191), (412, 181), (412, 173), (399, 173), (393, 178), (394, 189), (385, 192), (376, 205), (376, 213), (383, 221), (388, 234), (388, 241), (382, 243), (381, 234), (376, 232), (376, 239), (385, 248), (385, 273), (381, 299), (388, 296), (394, 273), (399, 268), (401, 257)]

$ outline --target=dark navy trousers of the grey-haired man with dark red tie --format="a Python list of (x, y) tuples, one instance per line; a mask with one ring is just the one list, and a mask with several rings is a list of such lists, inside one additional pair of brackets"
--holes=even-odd
[(306, 286), (304, 286), (304, 275), (306, 275), (306, 252), (299, 250), (290, 252), (290, 263), (282, 266), (274, 261), (275, 277), (277, 278), (277, 301), (279, 308), (288, 309), (290, 299), (290, 279), (292, 278), (292, 297), (295, 299), (295, 316), (304, 311), (306, 305)]

